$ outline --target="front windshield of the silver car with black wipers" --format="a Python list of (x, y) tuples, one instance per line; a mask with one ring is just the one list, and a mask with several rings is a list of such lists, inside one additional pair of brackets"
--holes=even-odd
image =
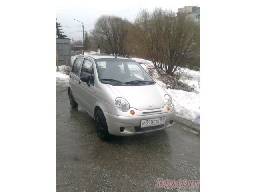
[(96, 59), (99, 80), (114, 85), (155, 84), (146, 71), (134, 60)]

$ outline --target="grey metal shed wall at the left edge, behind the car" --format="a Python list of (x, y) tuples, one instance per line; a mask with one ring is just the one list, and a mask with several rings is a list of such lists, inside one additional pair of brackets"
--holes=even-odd
[(58, 52), (58, 66), (71, 67), (70, 39), (56, 38), (56, 50)]

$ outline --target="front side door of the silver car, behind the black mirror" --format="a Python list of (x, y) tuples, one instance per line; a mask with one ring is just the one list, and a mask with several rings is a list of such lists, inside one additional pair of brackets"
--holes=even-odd
[(79, 95), (81, 95), (82, 105), (86, 108), (86, 111), (91, 116), (94, 115), (94, 68), (90, 60), (84, 59), (81, 69), (81, 76), (88, 75), (90, 76), (89, 85), (86, 82), (81, 82)]

